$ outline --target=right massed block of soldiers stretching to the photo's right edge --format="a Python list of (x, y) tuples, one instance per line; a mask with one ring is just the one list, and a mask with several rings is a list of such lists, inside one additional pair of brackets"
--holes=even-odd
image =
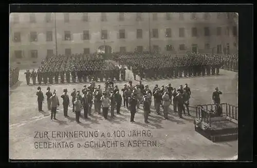
[(183, 57), (156, 53), (115, 53), (112, 57), (119, 65), (126, 65), (142, 78), (173, 78), (218, 75), (220, 68), (237, 71), (237, 57), (187, 52)]

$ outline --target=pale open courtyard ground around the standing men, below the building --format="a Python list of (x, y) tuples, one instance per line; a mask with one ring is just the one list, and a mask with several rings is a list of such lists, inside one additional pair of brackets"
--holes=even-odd
[[(154, 112), (149, 117), (150, 123), (145, 124), (143, 121), (142, 107), (135, 115), (136, 123), (130, 123), (130, 113), (121, 108), (121, 115), (114, 118), (103, 120), (101, 115), (94, 113), (89, 119), (81, 118), (81, 123), (75, 121), (75, 114), (69, 107), (68, 118), (63, 116), (63, 107), (59, 107), (56, 121), (50, 121), (50, 112), (47, 111), (46, 101), (43, 103), (44, 112), (38, 112), (38, 104), (36, 99), (36, 88), (38, 86), (27, 86), (25, 70), (21, 70), (19, 82), (10, 89), (10, 112), (9, 112), (9, 151), (10, 159), (236, 159), (237, 157), (237, 141), (213, 143), (194, 131), (194, 118), (185, 116), (179, 119), (173, 108), (170, 106), (169, 120), (164, 120), (162, 116), (156, 115)], [(223, 92), (221, 96), (222, 102), (227, 102), (237, 106), (237, 75), (234, 72), (221, 70), (219, 76), (207, 77), (191, 77), (163, 80), (143, 80), (142, 83), (148, 84), (152, 90), (155, 84), (159, 86), (168, 85), (178, 88), (179, 85), (185, 85), (191, 88), (192, 96), (190, 106), (197, 104), (211, 103), (211, 95), (215, 87)], [(126, 72), (127, 80), (132, 80), (131, 71)], [(137, 77), (138, 79), (138, 77)], [(133, 83), (138, 81), (133, 80)], [(116, 82), (119, 88), (127, 83)], [(84, 85), (89, 83), (70, 83), (50, 85), (51, 91), (57, 90), (60, 98), (63, 89), (68, 90), (70, 95), (72, 89), (81, 90)], [(104, 88), (103, 82), (97, 82)], [(48, 86), (48, 85), (47, 85)], [(47, 86), (41, 86), (42, 91), (46, 92)], [(93, 107), (94, 109), (94, 107)], [(153, 109), (153, 107), (152, 107)], [(194, 116), (194, 109), (191, 109)], [(153, 109), (154, 111), (154, 109)], [(110, 114), (108, 114), (110, 115)], [(150, 131), (151, 136), (128, 137), (130, 131)], [(98, 137), (90, 138), (51, 138), (35, 139), (35, 132), (47, 131), (50, 135), (53, 131), (98, 131)], [(114, 131), (124, 131), (124, 137), (114, 137)], [(100, 137), (104, 133), (105, 137)], [(106, 137), (107, 133), (111, 136)], [(114, 148), (78, 148), (77, 144), (83, 144), (85, 141), (107, 141), (117, 140), (118, 145)], [(131, 140), (150, 140), (156, 141), (156, 146), (137, 146), (128, 145)], [(66, 149), (36, 149), (34, 142), (47, 141), (73, 141), (73, 148)], [(120, 143), (124, 143), (124, 147)]]

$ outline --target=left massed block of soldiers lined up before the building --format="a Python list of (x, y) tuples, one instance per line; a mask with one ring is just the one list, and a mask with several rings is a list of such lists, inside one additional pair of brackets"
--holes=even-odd
[[(32, 78), (33, 84), (35, 85), (36, 77), (38, 78), (38, 85), (42, 83), (46, 85), (47, 83), (52, 84), (66, 83), (70, 82), (86, 82), (95, 80), (105, 81), (114, 80), (114, 78), (119, 81), (120, 74), (122, 80), (125, 80), (124, 68), (120, 69), (118, 66), (114, 65), (112, 62), (108, 62), (101, 57), (96, 55), (84, 55), (84, 54), (72, 54), (71, 56), (64, 55), (53, 55), (48, 57), (46, 61), (42, 62), (38, 71), (25, 72), (27, 84), (29, 85), (29, 80)], [(71, 79), (71, 80), (70, 80)]]

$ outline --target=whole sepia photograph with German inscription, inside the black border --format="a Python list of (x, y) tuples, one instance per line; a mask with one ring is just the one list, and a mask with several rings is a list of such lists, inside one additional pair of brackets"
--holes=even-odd
[(238, 13), (9, 22), (9, 159), (237, 159)]

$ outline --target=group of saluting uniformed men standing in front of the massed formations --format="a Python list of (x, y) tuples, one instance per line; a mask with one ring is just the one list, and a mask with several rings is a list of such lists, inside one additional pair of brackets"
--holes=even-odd
[[(119, 115), (122, 97), (124, 108), (131, 112), (131, 122), (134, 122), (136, 109), (139, 109), (139, 104), (143, 104), (144, 122), (148, 123), (152, 99), (154, 99), (154, 108), (158, 115), (160, 115), (160, 107), (162, 107), (164, 119), (168, 119), (169, 106), (172, 101), (173, 110), (174, 112), (178, 112), (180, 118), (182, 118), (182, 111), (185, 114), (185, 109), (187, 110), (188, 115), (190, 115), (189, 98), (191, 91), (187, 84), (184, 88), (180, 86), (177, 90), (171, 87), (171, 84), (166, 87), (162, 86), (161, 88), (158, 88), (158, 85), (156, 85), (153, 91), (151, 91), (149, 86), (143, 86), (141, 81), (137, 83), (136, 86), (133, 86), (132, 81), (130, 81), (128, 85), (124, 85), (121, 89), (123, 92), (122, 96), (120, 95), (118, 87), (114, 87), (113, 84), (112, 81), (106, 81), (105, 90), (102, 91), (100, 85), (96, 87), (95, 82), (91, 82), (88, 87), (83, 87), (81, 90), (82, 94), (76, 89), (71, 92), (72, 112), (76, 113), (76, 121), (78, 123), (80, 122), (80, 113), (82, 109), (84, 110), (85, 119), (88, 118), (88, 115), (92, 115), (91, 108), (93, 107), (93, 104), (95, 106), (95, 112), (99, 115), (103, 115), (104, 119), (107, 119), (109, 107), (111, 107), (109, 110), (111, 111), (111, 117), (115, 117), (115, 109), (117, 115)], [(44, 101), (44, 94), (41, 91), (41, 87), (38, 87), (38, 90), (36, 95), (38, 95), (39, 111), (43, 111), (42, 102)], [(63, 112), (65, 117), (69, 117), (68, 106), (70, 106), (70, 100), (67, 94), (68, 91), (67, 89), (64, 89), (63, 92), (63, 95), (61, 95), (61, 98), (63, 98)], [(56, 90), (51, 93), (50, 88), (48, 87), (46, 96), (48, 110), (51, 110), (51, 120), (56, 119), (57, 108), (60, 106)]]

